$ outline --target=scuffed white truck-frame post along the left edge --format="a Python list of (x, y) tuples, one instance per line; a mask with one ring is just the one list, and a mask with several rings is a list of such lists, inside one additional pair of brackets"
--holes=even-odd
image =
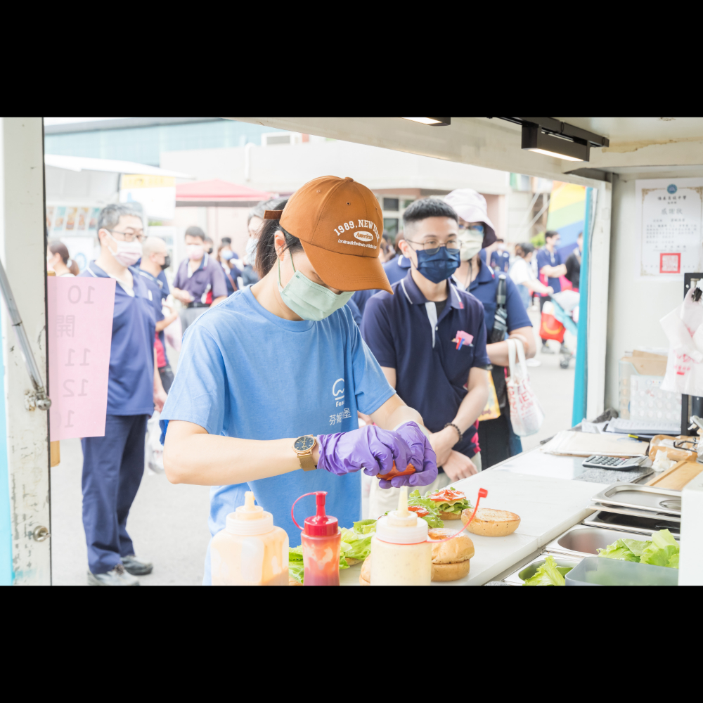
[[(46, 385), (44, 133), (41, 117), (3, 117), (0, 129), (0, 257)], [(32, 382), (2, 308), (13, 583), (51, 583), (49, 413), (32, 406)]]

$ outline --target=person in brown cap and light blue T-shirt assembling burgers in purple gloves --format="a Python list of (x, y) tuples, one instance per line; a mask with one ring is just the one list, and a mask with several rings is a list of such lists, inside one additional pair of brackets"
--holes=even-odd
[[(327, 491), (328, 515), (348, 526), (362, 517), (361, 468), (381, 488), (437, 477), (423, 418), (389, 385), (345, 305), (354, 290), (390, 290), (381, 234), (381, 209), (366, 186), (310, 181), (264, 214), (261, 280), (186, 330), (161, 415), (164, 466), (172, 482), (218, 486), (213, 535), (246, 490), (295, 546), (290, 509), (303, 494)], [(360, 428), (359, 412), (374, 424)], [(408, 474), (383, 478), (393, 467)], [(220, 568), (218, 557), (216, 581)], [(210, 574), (208, 556), (205, 583)]]

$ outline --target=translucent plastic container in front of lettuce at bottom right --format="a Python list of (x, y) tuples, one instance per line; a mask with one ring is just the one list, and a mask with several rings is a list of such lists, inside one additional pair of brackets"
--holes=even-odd
[(564, 578), (567, 586), (678, 586), (678, 569), (586, 557)]

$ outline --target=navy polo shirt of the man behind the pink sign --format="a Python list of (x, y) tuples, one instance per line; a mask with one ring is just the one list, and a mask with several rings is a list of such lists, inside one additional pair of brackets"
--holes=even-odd
[[(140, 269), (131, 266), (129, 270), (134, 281), (134, 296), (119, 282), (115, 284), (108, 415), (152, 415), (156, 318), (147, 285), (139, 275)], [(94, 261), (79, 276), (110, 278)]]

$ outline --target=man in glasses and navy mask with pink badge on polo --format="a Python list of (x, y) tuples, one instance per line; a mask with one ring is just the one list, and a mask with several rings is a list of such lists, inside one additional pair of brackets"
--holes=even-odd
[[(416, 200), (403, 215), (400, 243), (408, 275), (368, 299), (361, 333), (401, 399), (417, 408), (441, 465), (437, 491), (481, 468), (474, 423), (488, 398), (489, 358), (481, 304), (448, 280), (459, 262), (458, 218), (439, 198)], [(371, 484), (378, 517), (397, 490)]]

